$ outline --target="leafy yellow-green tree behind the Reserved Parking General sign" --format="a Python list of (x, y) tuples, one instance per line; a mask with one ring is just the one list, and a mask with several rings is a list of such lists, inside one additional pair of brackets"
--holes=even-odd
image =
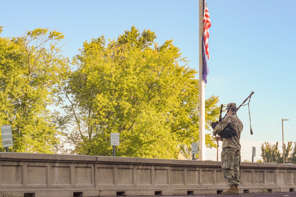
[(11, 152), (54, 153), (60, 134), (56, 115), (60, 77), (68, 60), (59, 56), (57, 31), (35, 29), (22, 37), (0, 37), (0, 122), (12, 126)]

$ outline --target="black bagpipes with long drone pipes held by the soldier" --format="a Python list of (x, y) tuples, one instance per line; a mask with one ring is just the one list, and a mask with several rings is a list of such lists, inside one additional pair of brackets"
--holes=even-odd
[[(251, 96), (254, 94), (254, 92), (252, 91), (252, 93), (242, 102), (242, 104), (238, 107), (238, 108), (236, 108), (234, 111), (233, 111), (233, 114), (235, 114), (238, 110), (239, 110), (239, 108), (241, 107), (241, 106), (243, 106), (244, 105), (244, 103), (249, 99), (249, 102), (247, 103), (247, 104), (245, 104), (245, 105), (249, 105), (249, 103), (250, 103), (250, 99), (251, 99)], [(223, 104), (221, 104), (221, 109), (220, 109), (220, 116), (219, 116), (219, 120), (218, 121), (216, 121), (216, 122), (212, 122), (212, 124), (211, 124), (211, 126), (212, 126), (212, 128), (213, 129), (215, 129), (215, 127), (220, 123), (220, 122), (222, 122), (225, 118), (226, 118), (226, 116), (228, 115), (228, 112), (229, 112), (229, 110), (230, 110), (230, 108), (232, 107), (232, 104), (230, 104), (230, 106), (227, 106), (228, 107), (228, 109), (227, 109), (227, 112), (226, 112), (226, 114), (225, 114), (225, 116), (222, 118), (222, 110), (223, 110)], [(249, 117), (250, 117), (250, 133), (251, 133), (251, 135), (253, 134), (253, 131), (252, 131), (252, 127), (251, 127), (251, 116), (250, 116), (250, 106), (249, 106)], [(230, 137), (234, 137), (234, 136), (236, 136), (237, 135), (237, 133), (233, 130), (233, 127), (232, 127), (232, 125), (231, 124), (227, 124), (226, 125), (226, 127), (224, 127), (224, 129), (220, 132), (220, 133), (218, 133), (218, 135), (220, 136), (220, 137), (222, 137), (222, 138), (230, 138)], [(219, 147), (219, 144), (218, 144), (218, 140), (217, 140), (217, 146)]]

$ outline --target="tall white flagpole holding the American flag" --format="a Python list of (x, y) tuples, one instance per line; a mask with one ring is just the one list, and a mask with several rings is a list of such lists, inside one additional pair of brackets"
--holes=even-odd
[(199, 160), (205, 160), (205, 82), (202, 79), (203, 1), (199, 0)]

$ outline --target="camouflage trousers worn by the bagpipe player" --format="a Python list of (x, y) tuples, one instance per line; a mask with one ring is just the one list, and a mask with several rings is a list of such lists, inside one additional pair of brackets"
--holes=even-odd
[(239, 166), (241, 164), (240, 151), (225, 147), (221, 152), (221, 167), (228, 186), (239, 185)]

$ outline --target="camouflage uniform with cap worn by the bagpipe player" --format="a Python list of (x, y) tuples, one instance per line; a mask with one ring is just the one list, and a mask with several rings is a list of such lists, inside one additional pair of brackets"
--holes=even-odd
[[(235, 103), (230, 104), (233, 104), (233, 106), (236, 107)], [(219, 132), (221, 132), (228, 124), (232, 124), (233, 130), (237, 133), (237, 136), (222, 138), (221, 167), (223, 175), (228, 181), (228, 185), (231, 186), (239, 185), (239, 166), (241, 164), (241, 145), (239, 143), (239, 139), (243, 129), (243, 124), (237, 117), (236, 113), (226, 116), (226, 118), (215, 127), (213, 135), (219, 134)]]

